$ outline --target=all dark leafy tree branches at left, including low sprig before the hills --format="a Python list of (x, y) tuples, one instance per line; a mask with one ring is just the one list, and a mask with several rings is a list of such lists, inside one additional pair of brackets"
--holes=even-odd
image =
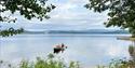
[[(11, 19), (10, 15), (2, 16), (1, 13), (10, 11), (11, 14), (14, 14), (16, 11), (19, 12), (22, 16), (27, 19), (31, 19), (33, 17), (42, 21), (43, 18), (50, 18), (48, 13), (50, 13), (55, 5), (46, 4), (48, 0), (0, 0), (0, 22), (11, 23), (17, 19)], [(0, 26), (2, 27), (2, 26)], [(6, 30), (0, 30), (0, 36), (13, 36), (14, 33), (21, 33), (24, 29), (14, 29), (9, 28)]]

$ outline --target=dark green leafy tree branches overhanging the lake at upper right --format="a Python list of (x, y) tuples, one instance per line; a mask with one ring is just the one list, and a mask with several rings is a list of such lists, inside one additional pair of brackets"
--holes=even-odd
[(106, 27), (129, 29), (135, 37), (135, 0), (90, 0), (84, 6), (99, 13), (108, 10)]

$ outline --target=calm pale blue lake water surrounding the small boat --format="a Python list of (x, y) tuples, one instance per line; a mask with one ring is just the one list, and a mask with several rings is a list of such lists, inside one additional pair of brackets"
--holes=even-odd
[(18, 35), (0, 39), (0, 59), (18, 62), (35, 59), (53, 52), (53, 46), (65, 43), (68, 49), (59, 56), (78, 60), (84, 66), (106, 64), (111, 58), (129, 57), (129, 41), (117, 40), (121, 35)]

